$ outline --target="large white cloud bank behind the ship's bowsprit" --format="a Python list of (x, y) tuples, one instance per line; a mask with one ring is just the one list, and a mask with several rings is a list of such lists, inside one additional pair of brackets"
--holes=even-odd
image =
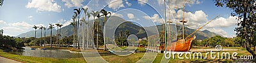
[[(182, 10), (177, 11), (176, 18), (180, 18), (179, 20), (182, 20), (182, 12), (183, 12)], [(207, 19), (207, 17), (208, 16), (202, 10), (195, 11), (195, 13), (185, 12), (185, 20), (188, 21), (188, 23), (186, 24), (188, 24), (189, 28), (192, 28), (192, 29), (197, 29), (198, 27), (209, 22), (209, 20), (211, 19)], [(179, 20), (175, 20), (175, 22), (179, 22)], [(223, 29), (232, 27), (236, 25), (236, 23), (237, 23), (236, 17), (231, 17), (231, 16), (228, 18), (220, 17), (220, 18), (216, 18), (215, 20), (207, 24), (204, 28), (211, 32), (215, 32), (216, 34), (220, 34), (221, 36), (233, 37), (234, 34), (230, 36)]]

